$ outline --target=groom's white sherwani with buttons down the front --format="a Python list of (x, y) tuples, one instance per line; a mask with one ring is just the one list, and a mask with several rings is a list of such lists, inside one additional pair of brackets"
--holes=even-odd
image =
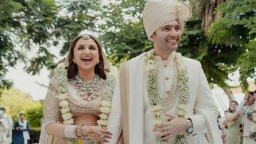
[[(152, 112), (150, 111), (150, 103), (146, 90), (146, 76), (144, 71), (144, 54), (140, 54), (136, 58), (127, 62), (127, 77), (128, 77), (128, 95), (129, 95), (129, 143), (144, 143), (155, 144), (156, 140), (152, 132)], [(166, 96), (167, 91), (170, 89), (173, 80), (173, 73), (175, 62), (175, 52), (169, 56), (167, 60), (161, 60), (156, 56), (155, 61), (158, 67), (158, 82), (160, 96)], [(205, 128), (208, 129), (210, 141), (215, 144), (222, 143), (221, 135), (217, 127), (217, 106), (215, 105), (213, 96), (209, 89), (209, 85), (203, 73), (200, 62), (192, 59), (185, 58), (186, 66), (188, 67), (189, 75), (189, 92), (190, 98), (188, 101), (188, 114), (187, 117), (191, 118), (194, 125), (194, 132), (191, 135), (202, 132)], [(121, 79), (121, 78), (120, 78)], [(117, 90), (119, 88), (116, 88)], [(119, 92), (115, 92), (116, 95)], [(179, 94), (178, 94), (179, 96)], [(177, 98), (173, 99), (173, 105), (167, 111), (171, 115), (177, 115)], [(114, 97), (115, 98), (115, 97)], [(118, 103), (119, 98), (113, 99), (113, 103)], [(114, 106), (114, 105), (113, 105)], [(110, 113), (109, 130), (119, 135), (121, 129), (121, 111), (116, 104), (112, 107)], [(115, 119), (116, 118), (116, 119)], [(119, 119), (118, 119), (119, 118)], [(119, 125), (117, 123), (120, 123)], [(175, 143), (175, 137), (171, 137), (169, 143)], [(116, 143), (117, 136), (114, 135), (110, 139), (110, 143)], [(188, 137), (188, 143), (194, 143), (193, 136)]]

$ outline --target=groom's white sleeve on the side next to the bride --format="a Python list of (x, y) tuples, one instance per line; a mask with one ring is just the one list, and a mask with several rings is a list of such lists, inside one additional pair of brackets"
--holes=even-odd
[(109, 143), (117, 143), (122, 130), (121, 126), (121, 101), (119, 90), (119, 77), (117, 77), (112, 99), (112, 107), (108, 119), (108, 130), (113, 134)]

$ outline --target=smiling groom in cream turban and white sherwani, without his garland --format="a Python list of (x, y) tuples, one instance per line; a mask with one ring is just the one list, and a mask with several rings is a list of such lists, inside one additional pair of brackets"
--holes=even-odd
[[(154, 62), (158, 71), (158, 91), (160, 97), (166, 96), (174, 79), (173, 73), (177, 69), (176, 62), (178, 54), (175, 52), (181, 40), (184, 21), (190, 19), (192, 10), (188, 3), (181, 1), (150, 0), (143, 10), (143, 22), (148, 39), (154, 43)], [(136, 58), (129, 60), (126, 65), (121, 64), (120, 81), (116, 86), (110, 112), (108, 130), (112, 132), (110, 143), (116, 143), (123, 126), (125, 144), (156, 144), (156, 133), (159, 127), (164, 128), (162, 137), (168, 139), (168, 143), (175, 143), (175, 136), (184, 134), (188, 125), (192, 122), (194, 128), (192, 134), (187, 137), (189, 144), (196, 144), (198, 137), (193, 135), (202, 134), (207, 128), (207, 137), (211, 144), (221, 144), (221, 134), (217, 126), (219, 111), (209, 89), (208, 82), (203, 73), (200, 62), (190, 58), (184, 58), (184, 67), (187, 67), (189, 79), (189, 100), (186, 105), (186, 118), (178, 117), (177, 104), (179, 94), (171, 101), (171, 107), (166, 110), (165, 121), (156, 127), (153, 125), (152, 111), (150, 111), (150, 100), (148, 98), (146, 85), (145, 57), (146, 52)], [(183, 59), (182, 59), (183, 60)], [(123, 66), (125, 65), (125, 66)], [(125, 75), (122, 75), (123, 67)], [(175, 68), (176, 67), (176, 68)], [(123, 85), (123, 77), (126, 82)], [(179, 89), (179, 88), (178, 88)], [(123, 115), (123, 91), (126, 91), (128, 114)], [(120, 92), (121, 91), (121, 92)], [(122, 107), (122, 109), (120, 109)], [(121, 117), (122, 115), (122, 117)], [(122, 120), (121, 120), (122, 119)], [(128, 126), (126, 126), (128, 125)], [(155, 126), (155, 127), (154, 127)], [(128, 132), (127, 132), (128, 131)], [(162, 135), (166, 134), (166, 135)], [(186, 133), (185, 133), (186, 135)], [(199, 140), (200, 141), (200, 140)], [(198, 144), (198, 143), (197, 143)]]

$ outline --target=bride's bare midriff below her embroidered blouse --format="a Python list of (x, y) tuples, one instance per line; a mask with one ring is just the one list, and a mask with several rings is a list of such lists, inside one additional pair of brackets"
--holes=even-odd
[(85, 125), (85, 126), (97, 126), (98, 117), (95, 115), (91, 115), (89, 113), (85, 113), (80, 115), (79, 117), (74, 118), (74, 125)]

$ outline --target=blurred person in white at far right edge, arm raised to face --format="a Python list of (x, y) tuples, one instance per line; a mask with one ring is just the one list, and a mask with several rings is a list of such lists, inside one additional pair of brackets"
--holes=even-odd
[(256, 122), (252, 118), (252, 111), (255, 99), (253, 98), (253, 92), (247, 92), (244, 96), (244, 100), (241, 101), (241, 103), (238, 105), (236, 112), (239, 115), (242, 115), (244, 117), (244, 134), (243, 134), (243, 143), (244, 144), (255, 144), (255, 141), (250, 135), (251, 132), (251, 122)]

